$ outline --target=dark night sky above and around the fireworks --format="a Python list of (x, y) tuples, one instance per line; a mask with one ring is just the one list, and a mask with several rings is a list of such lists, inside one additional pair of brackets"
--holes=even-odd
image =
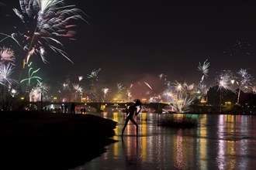
[[(12, 8), (19, 1), (0, 1), (0, 32), (16, 32), (22, 25)], [(78, 81), (98, 70), (99, 80), (112, 86), (146, 81), (164, 73), (171, 82), (198, 83), (199, 62), (208, 59), (208, 83), (221, 70), (246, 69), (256, 77), (256, 2), (248, 0), (206, 1), (65, 1), (86, 13), (87, 22), (78, 26), (76, 39), (60, 39), (74, 62), (48, 52), (48, 64), (33, 56), (43, 80), (54, 84), (67, 75)], [(4, 7), (4, 8), (3, 8)], [(1, 42), (8, 46), (12, 41)], [(16, 54), (16, 73), (20, 73), (26, 52), (12, 42)], [(16, 74), (14, 73), (14, 74)], [(16, 75), (18, 75), (16, 74)], [(152, 78), (153, 77), (153, 78)], [(209, 84), (210, 85), (210, 84)]]

